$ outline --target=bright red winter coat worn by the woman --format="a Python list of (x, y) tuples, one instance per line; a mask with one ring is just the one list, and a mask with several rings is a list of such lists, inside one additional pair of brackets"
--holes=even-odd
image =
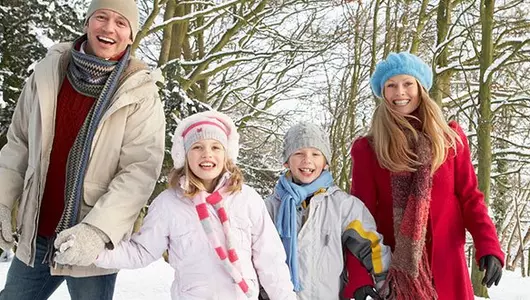
[[(478, 190), (467, 138), (456, 123), (449, 123), (462, 139), (457, 153), (451, 149), (446, 161), (434, 173), (427, 249), (439, 300), (473, 300), (473, 288), (466, 266), (464, 244), (467, 229), (477, 249), (477, 261), (492, 254), (502, 263), (495, 226), (488, 216), (484, 195)], [(394, 250), (394, 223), (390, 172), (379, 166), (366, 137), (356, 140), (351, 150), (353, 160), (351, 193), (361, 199), (377, 223), (383, 242)], [(357, 288), (373, 285), (366, 269), (354, 256), (347, 256), (349, 282), (344, 294), (352, 297)]]

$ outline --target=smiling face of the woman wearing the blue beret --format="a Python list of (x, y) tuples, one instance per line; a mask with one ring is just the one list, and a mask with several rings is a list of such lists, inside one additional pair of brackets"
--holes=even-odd
[(385, 82), (383, 95), (387, 105), (402, 115), (410, 115), (420, 105), (420, 90), (416, 78), (396, 75)]

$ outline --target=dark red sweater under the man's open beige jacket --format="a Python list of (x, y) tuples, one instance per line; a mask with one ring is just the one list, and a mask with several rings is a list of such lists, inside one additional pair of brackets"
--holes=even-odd
[(63, 214), (68, 154), (94, 100), (78, 93), (65, 76), (57, 96), (55, 135), (40, 208), (41, 236), (53, 236)]

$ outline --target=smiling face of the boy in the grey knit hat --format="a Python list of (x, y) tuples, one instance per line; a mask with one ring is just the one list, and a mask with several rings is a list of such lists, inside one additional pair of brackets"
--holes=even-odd
[(289, 156), (284, 166), (291, 170), (295, 183), (309, 184), (320, 176), (327, 164), (317, 148), (300, 148)]

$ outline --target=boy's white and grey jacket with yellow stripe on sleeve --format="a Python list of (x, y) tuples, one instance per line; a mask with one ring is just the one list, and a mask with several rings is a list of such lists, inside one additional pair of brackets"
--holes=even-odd
[[(309, 213), (302, 224), (304, 209), (297, 208), (298, 260), (303, 290), (299, 300), (337, 300), (342, 289), (344, 246), (374, 275), (385, 279), (390, 265), (390, 248), (383, 245), (374, 218), (364, 204), (332, 186), (311, 198)], [(265, 204), (276, 221), (281, 200), (275, 193)]]

